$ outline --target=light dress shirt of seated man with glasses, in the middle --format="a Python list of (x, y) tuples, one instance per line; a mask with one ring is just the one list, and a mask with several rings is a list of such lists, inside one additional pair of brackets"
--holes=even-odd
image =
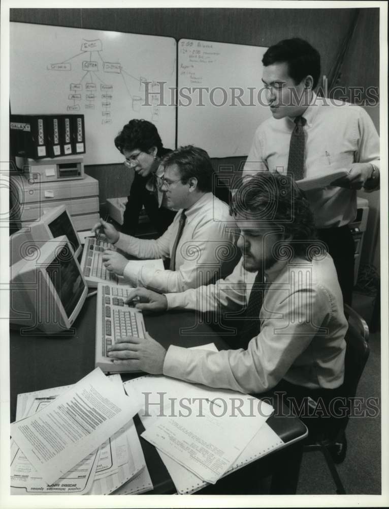
[[(116, 247), (141, 260), (171, 258), (181, 212), (182, 209), (158, 239), (144, 240), (120, 233)], [(129, 284), (158, 292), (183, 292), (207, 285), (216, 274), (223, 277), (231, 272), (232, 262), (222, 262), (226, 253), (236, 251), (236, 232), (228, 205), (207, 192), (185, 214), (186, 223), (176, 250), (176, 270), (147, 266), (134, 269), (129, 261), (123, 274)]]

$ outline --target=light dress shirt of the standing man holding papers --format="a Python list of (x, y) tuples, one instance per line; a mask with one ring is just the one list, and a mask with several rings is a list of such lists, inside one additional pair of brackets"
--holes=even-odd
[[(313, 94), (303, 117), (307, 121), (303, 127), (306, 178), (325, 171), (349, 170), (354, 162), (369, 162), (379, 169), (378, 134), (363, 108)], [(265, 120), (255, 132), (243, 179), (261, 171), (286, 172), (290, 136), (295, 127), (294, 120), (288, 117)], [(340, 227), (356, 216), (355, 190), (328, 186), (305, 194), (316, 228)]]

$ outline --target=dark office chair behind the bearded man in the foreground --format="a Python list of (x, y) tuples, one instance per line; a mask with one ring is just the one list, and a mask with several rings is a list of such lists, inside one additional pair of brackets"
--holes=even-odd
[[(369, 327), (365, 320), (347, 304), (344, 305), (344, 314), (348, 318), (348, 330), (345, 336), (347, 346), (344, 359), (343, 387), (345, 397), (353, 398), (369, 357)], [(349, 415), (352, 412), (352, 404), (353, 401), (351, 399), (347, 405), (347, 415), (345, 418), (332, 419), (333, 427), (329, 430), (329, 436), (321, 436), (314, 443), (304, 445), (303, 448), (303, 451), (307, 453), (317, 450), (321, 451), (336, 484), (338, 495), (346, 494), (335, 464), (341, 463), (346, 456), (347, 441), (345, 429)]]

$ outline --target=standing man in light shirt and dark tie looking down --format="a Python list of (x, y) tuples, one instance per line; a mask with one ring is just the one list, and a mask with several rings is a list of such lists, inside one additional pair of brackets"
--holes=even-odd
[(291, 173), (295, 180), (346, 169), (336, 185), (306, 191), (319, 239), (328, 245), (343, 299), (351, 303), (356, 189), (379, 188), (379, 138), (360, 106), (316, 96), (320, 55), (302, 39), (271, 46), (262, 81), (272, 117), (256, 130), (243, 180), (257, 172)]

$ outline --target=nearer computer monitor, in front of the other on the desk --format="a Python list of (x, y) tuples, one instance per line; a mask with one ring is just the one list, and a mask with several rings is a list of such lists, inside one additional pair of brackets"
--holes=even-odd
[(11, 267), (10, 324), (24, 335), (69, 334), (88, 287), (65, 236), (42, 243)]

